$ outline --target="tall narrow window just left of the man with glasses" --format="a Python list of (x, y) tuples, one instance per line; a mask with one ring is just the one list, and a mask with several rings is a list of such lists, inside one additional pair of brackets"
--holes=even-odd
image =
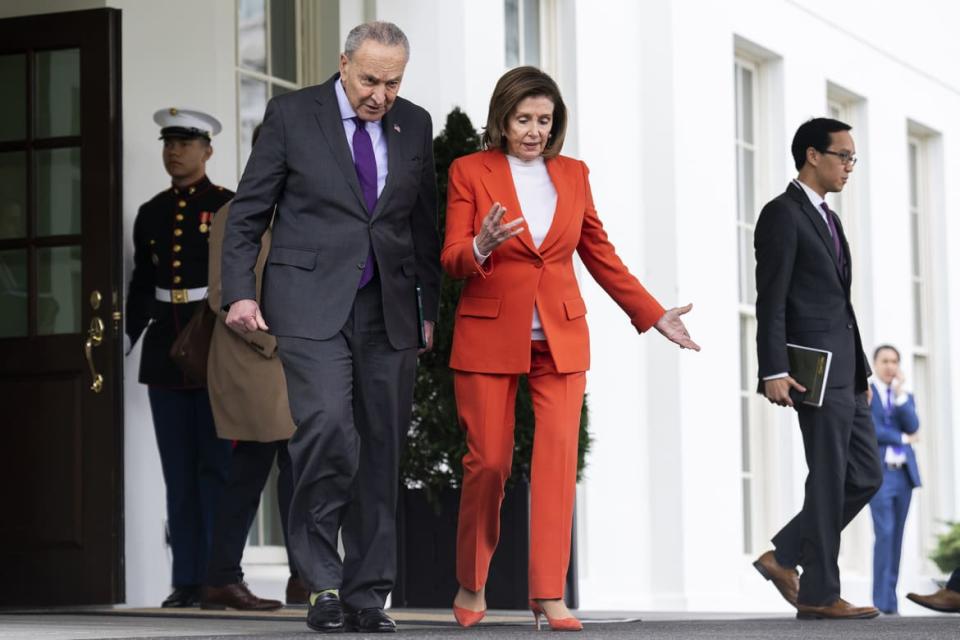
[(735, 152), (737, 167), (737, 252), (740, 316), (740, 441), (743, 497), (743, 551), (752, 553), (757, 537), (754, 512), (756, 491), (756, 437), (760, 399), (756, 393), (756, 259), (753, 229), (757, 216), (758, 68), (738, 58), (733, 65)]

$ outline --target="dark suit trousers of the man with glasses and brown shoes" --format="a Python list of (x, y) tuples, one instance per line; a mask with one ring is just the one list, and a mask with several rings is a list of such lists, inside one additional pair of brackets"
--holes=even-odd
[(803, 508), (773, 538), (777, 561), (803, 567), (798, 600), (832, 604), (840, 597), (840, 532), (883, 481), (866, 393), (827, 389), (822, 407), (798, 405), (807, 458)]

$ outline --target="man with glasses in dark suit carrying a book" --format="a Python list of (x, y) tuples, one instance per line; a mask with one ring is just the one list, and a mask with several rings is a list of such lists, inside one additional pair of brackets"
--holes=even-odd
[[(791, 151), (799, 173), (763, 208), (754, 234), (759, 391), (797, 411), (809, 471), (803, 508), (754, 566), (798, 618), (879, 615), (840, 597), (837, 565), (841, 531), (883, 480), (868, 400), (870, 366), (850, 300), (850, 248), (824, 199), (844, 188), (856, 164), (850, 128), (814, 118), (797, 129)], [(822, 406), (801, 402), (806, 390), (790, 376), (787, 343), (833, 353)]]

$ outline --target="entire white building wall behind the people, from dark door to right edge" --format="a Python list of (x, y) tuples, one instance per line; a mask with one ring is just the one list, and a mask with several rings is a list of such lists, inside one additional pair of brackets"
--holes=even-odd
[[(123, 10), (124, 225), (167, 184), (152, 113), (167, 106), (212, 112), (224, 124), (211, 178), (236, 185), (234, 3), (136, 0), (7, 2), (0, 15), (94, 6)], [(366, 7), (366, 8), (365, 8)], [(960, 359), (951, 320), (960, 313), (960, 13), (951, 3), (856, 0), (559, 0), (559, 77), (571, 107), (568, 151), (591, 167), (601, 219), (620, 255), (665, 305), (692, 301), (687, 325), (701, 353), (680, 352), (655, 332), (637, 336), (622, 311), (583, 274), (592, 328), (588, 377), (595, 438), (580, 486), (581, 604), (593, 609), (786, 611), (742, 552), (737, 247), (732, 65), (735, 39), (775, 60), (765, 67), (770, 157), (767, 197), (793, 175), (796, 126), (825, 111), (831, 82), (862, 96), (854, 172), (858, 310), (873, 342), (906, 351), (909, 314), (907, 121), (939, 137), (934, 175), (933, 322), (938, 429), (921, 449), (934, 517), (960, 514), (953, 461), (960, 457)], [(502, 4), (486, 0), (340, 0), (341, 37), (370, 10), (412, 45), (402, 95), (426, 107), (439, 131), (453, 106), (478, 127), (503, 68)], [(189, 15), (190, 20), (184, 20)], [(873, 345), (866, 345), (871, 348)], [(156, 604), (169, 561), (162, 540), (163, 483), (146, 394), (127, 359), (125, 518), (127, 600)], [(912, 375), (909, 362), (907, 376)], [(769, 534), (799, 508), (805, 473), (795, 420), (771, 410), (764, 461)], [(928, 450), (932, 449), (932, 450)], [(936, 461), (937, 464), (934, 464)], [(936, 473), (934, 473), (936, 471)], [(928, 490), (928, 489), (923, 489)], [(915, 505), (917, 502), (915, 502)], [(918, 509), (905, 542), (901, 591), (931, 587)], [(844, 545), (844, 595), (869, 601), (868, 516)], [(904, 611), (916, 610), (904, 604)]]

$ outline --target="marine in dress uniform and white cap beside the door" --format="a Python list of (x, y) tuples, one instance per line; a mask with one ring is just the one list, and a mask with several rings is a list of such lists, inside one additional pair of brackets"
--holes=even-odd
[(167, 489), (173, 592), (163, 606), (188, 607), (199, 602), (231, 451), (230, 442), (217, 437), (206, 388), (169, 353), (197, 305), (205, 304), (210, 225), (233, 192), (206, 176), (210, 139), (220, 131), (215, 118), (170, 108), (153, 119), (172, 185), (140, 207), (134, 222), (126, 332), (131, 345), (143, 334), (139, 380), (148, 385)]

